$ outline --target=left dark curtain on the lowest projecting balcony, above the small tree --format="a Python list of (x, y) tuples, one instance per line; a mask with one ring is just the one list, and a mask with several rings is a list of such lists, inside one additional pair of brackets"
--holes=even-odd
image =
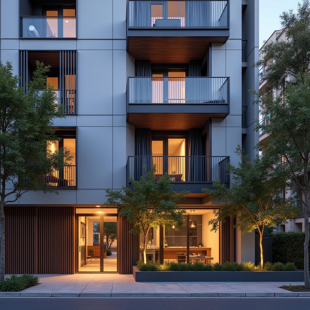
[[(152, 167), (152, 134), (150, 129), (135, 130), (135, 180)], [(146, 170), (144, 170), (144, 166)]]

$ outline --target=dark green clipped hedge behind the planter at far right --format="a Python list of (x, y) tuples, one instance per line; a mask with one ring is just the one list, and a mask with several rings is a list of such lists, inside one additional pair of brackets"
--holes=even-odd
[[(303, 270), (304, 232), (277, 232), (273, 235), (272, 259), (274, 262), (292, 262), (298, 269)], [(309, 244), (310, 251), (310, 244)], [(310, 259), (309, 259), (310, 263)]]

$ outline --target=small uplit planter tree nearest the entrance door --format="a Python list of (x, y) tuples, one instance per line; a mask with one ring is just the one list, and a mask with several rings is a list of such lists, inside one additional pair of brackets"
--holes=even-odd
[(169, 175), (166, 173), (158, 182), (155, 181), (156, 166), (141, 177), (132, 181), (132, 189), (123, 187), (123, 191), (106, 191), (107, 204), (117, 206), (119, 214), (126, 216), (131, 223), (131, 233), (143, 232), (143, 259), (146, 263), (146, 242), (150, 228), (159, 226), (183, 226), (185, 210), (179, 209), (177, 203), (188, 192), (175, 192)]

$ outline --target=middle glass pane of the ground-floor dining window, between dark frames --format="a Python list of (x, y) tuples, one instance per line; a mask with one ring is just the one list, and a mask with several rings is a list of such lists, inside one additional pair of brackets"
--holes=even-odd
[(184, 216), (183, 227), (164, 227), (164, 261), (186, 262), (188, 218)]

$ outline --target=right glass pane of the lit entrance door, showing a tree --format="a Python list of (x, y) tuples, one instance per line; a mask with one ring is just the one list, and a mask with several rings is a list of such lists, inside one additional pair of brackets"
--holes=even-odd
[(104, 216), (104, 272), (117, 272), (117, 217)]

